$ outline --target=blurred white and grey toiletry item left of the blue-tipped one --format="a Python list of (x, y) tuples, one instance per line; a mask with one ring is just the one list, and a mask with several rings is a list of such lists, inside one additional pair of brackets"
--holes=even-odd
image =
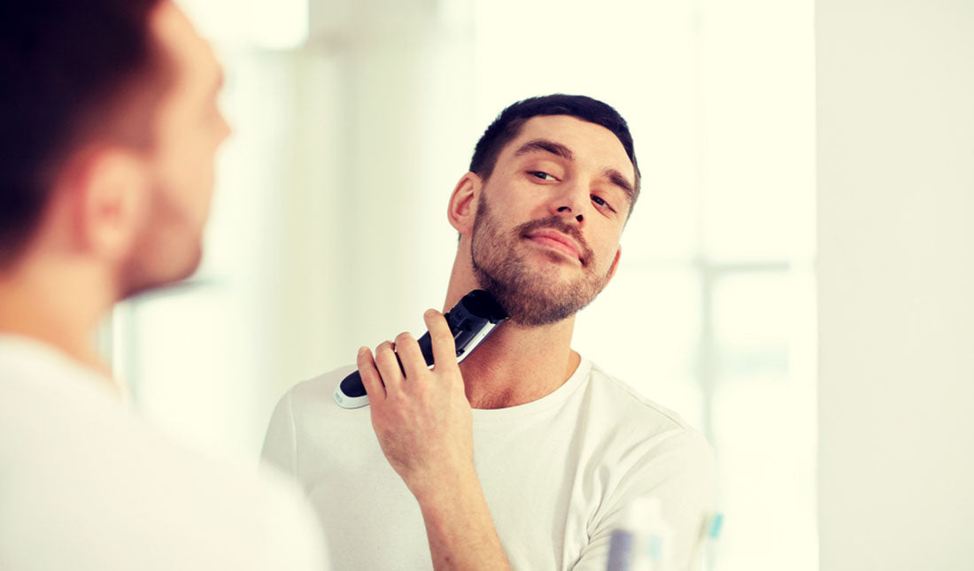
[(673, 571), (672, 530), (656, 497), (637, 498), (613, 531), (607, 571)]

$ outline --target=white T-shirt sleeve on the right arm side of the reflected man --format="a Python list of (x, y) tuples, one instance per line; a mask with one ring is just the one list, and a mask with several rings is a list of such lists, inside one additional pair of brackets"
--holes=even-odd
[(714, 453), (702, 435), (681, 428), (647, 443), (593, 518), (589, 543), (573, 570), (605, 571), (612, 533), (623, 526), (626, 507), (636, 498), (655, 496), (672, 532), (674, 571), (698, 571), (698, 542), (715, 494)]

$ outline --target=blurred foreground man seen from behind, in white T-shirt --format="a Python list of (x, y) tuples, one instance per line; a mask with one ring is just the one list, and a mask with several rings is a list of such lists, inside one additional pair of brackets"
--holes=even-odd
[(91, 345), (200, 262), (206, 42), (169, 0), (5, 2), (0, 76), (0, 568), (321, 569), (300, 493), (157, 434)]

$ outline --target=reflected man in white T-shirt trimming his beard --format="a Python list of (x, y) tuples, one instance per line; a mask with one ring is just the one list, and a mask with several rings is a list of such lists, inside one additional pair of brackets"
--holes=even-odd
[(304, 483), (337, 568), (602, 571), (643, 496), (673, 528), (675, 568), (695, 564), (708, 444), (570, 347), (638, 192), (631, 136), (605, 103), (526, 99), (487, 129), (450, 197), (444, 308), (483, 288), (510, 319), (458, 365), (430, 310), (431, 369), (402, 333), (359, 350), (369, 408), (332, 400), (346, 368), (296, 386), (271, 420), (264, 456)]

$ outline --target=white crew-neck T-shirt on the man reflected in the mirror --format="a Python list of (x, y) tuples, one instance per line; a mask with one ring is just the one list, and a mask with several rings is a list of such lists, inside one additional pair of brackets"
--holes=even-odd
[[(264, 457), (304, 485), (336, 569), (431, 569), (419, 504), (386, 461), (369, 409), (332, 393), (347, 367), (295, 386), (278, 404)], [(556, 391), (473, 410), (474, 463), (514, 569), (604, 571), (635, 498), (659, 498), (675, 568), (693, 555), (713, 506), (713, 452), (674, 413), (582, 360)]]

